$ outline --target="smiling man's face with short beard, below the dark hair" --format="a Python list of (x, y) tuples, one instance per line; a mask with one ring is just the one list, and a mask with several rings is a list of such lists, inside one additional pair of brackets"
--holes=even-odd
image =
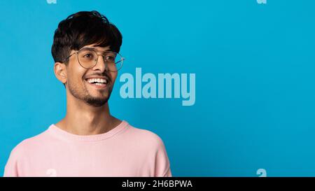
[[(93, 45), (86, 45), (84, 48), (94, 48), (98, 55), (102, 52), (109, 50), (107, 47), (94, 47)], [(70, 55), (75, 52), (71, 51)], [(104, 58), (99, 56), (97, 64), (90, 68), (85, 69), (78, 63), (77, 55), (74, 54), (69, 58), (69, 64), (66, 67), (66, 89), (69, 93), (85, 101), (87, 104), (95, 107), (103, 106), (109, 100), (113, 85), (115, 83), (118, 72), (109, 71), (104, 63)], [(94, 83), (89, 83), (88, 80), (92, 78), (103, 78), (107, 82), (102, 86)], [(102, 80), (104, 82), (104, 80)]]

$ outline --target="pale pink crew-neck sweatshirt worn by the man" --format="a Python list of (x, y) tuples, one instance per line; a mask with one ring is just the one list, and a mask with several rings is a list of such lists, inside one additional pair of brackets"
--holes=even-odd
[(104, 134), (70, 134), (54, 124), (10, 153), (4, 176), (172, 176), (162, 139), (125, 120)]

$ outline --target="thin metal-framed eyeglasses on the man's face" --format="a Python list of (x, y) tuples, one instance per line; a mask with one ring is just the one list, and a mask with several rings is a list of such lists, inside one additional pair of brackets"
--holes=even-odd
[[(118, 52), (104, 51), (102, 55), (98, 55), (94, 48), (81, 48), (80, 50), (73, 52), (69, 57), (75, 55), (78, 59), (78, 63), (85, 69), (91, 69), (96, 66), (99, 56), (102, 56), (109, 71), (118, 71), (123, 66), (124, 57)], [(66, 57), (65, 62), (69, 57)]]

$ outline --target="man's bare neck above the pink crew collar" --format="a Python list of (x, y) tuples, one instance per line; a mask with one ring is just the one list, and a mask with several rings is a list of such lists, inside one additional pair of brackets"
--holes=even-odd
[(94, 107), (82, 102), (68, 102), (65, 118), (55, 125), (71, 134), (93, 135), (109, 132), (120, 122), (110, 114), (108, 103)]

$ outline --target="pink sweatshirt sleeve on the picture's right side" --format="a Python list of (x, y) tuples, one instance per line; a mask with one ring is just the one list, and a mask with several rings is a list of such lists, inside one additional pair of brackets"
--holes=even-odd
[(158, 137), (158, 148), (155, 155), (155, 177), (172, 177), (167, 151), (160, 137)]

